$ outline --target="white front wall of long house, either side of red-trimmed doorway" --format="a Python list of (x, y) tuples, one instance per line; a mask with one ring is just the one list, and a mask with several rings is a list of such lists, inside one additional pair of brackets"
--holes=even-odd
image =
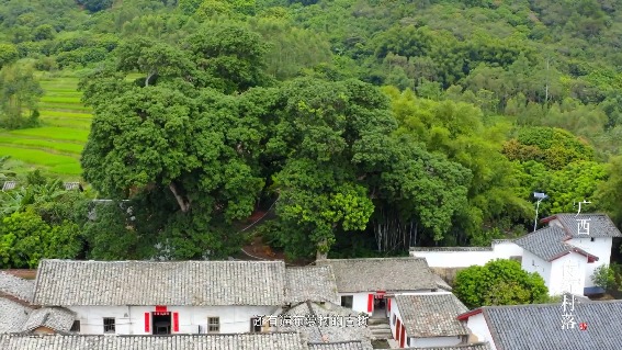
[[(117, 335), (146, 335), (145, 313), (156, 311), (155, 306), (68, 306), (80, 320), (80, 334), (103, 334), (103, 318), (114, 317)], [(255, 316), (272, 315), (280, 307), (275, 306), (168, 306), (171, 313), (179, 313), (177, 334), (196, 334), (197, 326), (206, 331), (207, 317), (220, 318), (220, 332), (248, 332), (250, 319)], [(149, 334), (154, 325), (149, 319)]]

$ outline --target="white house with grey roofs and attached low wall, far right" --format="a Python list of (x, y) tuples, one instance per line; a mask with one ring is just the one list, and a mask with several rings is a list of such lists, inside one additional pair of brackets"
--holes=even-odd
[(524, 271), (544, 279), (550, 295), (604, 292), (591, 278), (610, 263), (613, 238), (622, 237), (611, 219), (604, 214), (557, 214), (541, 222), (547, 226), (514, 240), (494, 240), (490, 248), (410, 248), (410, 255), (441, 269), (516, 259)]

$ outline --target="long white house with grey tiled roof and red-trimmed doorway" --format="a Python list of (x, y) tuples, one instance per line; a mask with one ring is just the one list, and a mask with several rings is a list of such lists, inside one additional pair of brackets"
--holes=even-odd
[(42, 260), (34, 303), (72, 311), (87, 335), (259, 332), (285, 286), (283, 261)]

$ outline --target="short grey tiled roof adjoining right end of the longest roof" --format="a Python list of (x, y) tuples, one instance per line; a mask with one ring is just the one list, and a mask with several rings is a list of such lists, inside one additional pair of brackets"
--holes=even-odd
[(285, 300), (296, 304), (306, 301), (341, 303), (331, 268), (305, 267), (287, 268)]

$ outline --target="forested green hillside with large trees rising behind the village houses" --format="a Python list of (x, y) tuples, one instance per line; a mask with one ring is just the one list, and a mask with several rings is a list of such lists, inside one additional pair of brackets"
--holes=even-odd
[[(0, 0), (5, 132), (65, 113), (39, 116), (49, 91), (37, 77), (80, 78), (80, 108), (93, 115), (81, 155), (92, 191), (3, 194), (0, 267), (32, 264), (7, 247), (33, 221), (64, 227), (56, 237), (36, 226), (50, 247), (71, 241), (58, 257), (93, 259), (226, 257), (248, 238), (245, 219), (269, 208), (253, 229), (291, 257), (485, 246), (532, 229), (534, 191), (549, 195), (541, 217), (587, 200), (584, 211), (620, 225), (619, 9)], [(0, 156), (14, 135), (0, 135)], [(90, 219), (49, 213), (87, 212), (94, 195), (129, 202), (101, 204)]]

